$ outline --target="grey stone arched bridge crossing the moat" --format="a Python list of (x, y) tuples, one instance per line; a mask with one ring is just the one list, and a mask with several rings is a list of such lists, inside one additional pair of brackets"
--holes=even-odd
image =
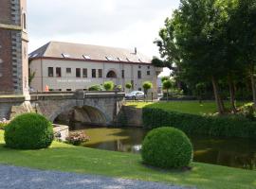
[[(83, 116), (84, 120), (107, 126), (117, 121), (123, 102), (124, 93), (119, 92), (32, 93), (27, 102), (13, 103), (10, 100), (9, 104), (13, 106), (9, 118), (23, 112), (38, 112), (53, 122), (62, 113), (76, 110), (77, 116)], [(1, 106), (0, 101), (0, 109)]]

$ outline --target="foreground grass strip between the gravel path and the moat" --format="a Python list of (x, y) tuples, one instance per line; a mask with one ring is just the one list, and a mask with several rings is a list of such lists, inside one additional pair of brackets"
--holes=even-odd
[[(192, 163), (192, 171), (157, 170), (141, 163), (139, 155), (68, 146), (54, 142), (41, 150), (14, 150), (4, 147), (0, 130), (0, 163), (43, 170), (97, 174), (133, 180), (152, 180), (197, 188), (256, 188), (256, 171), (205, 163)], [(3, 173), (4, 174), (4, 173)]]

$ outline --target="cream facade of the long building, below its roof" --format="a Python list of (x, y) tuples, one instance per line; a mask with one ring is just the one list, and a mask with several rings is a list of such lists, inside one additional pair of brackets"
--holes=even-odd
[[(125, 89), (125, 84), (134, 83), (133, 90), (143, 90), (142, 83), (151, 81), (154, 85), (152, 92), (157, 91), (156, 78), (159, 72), (150, 63), (129, 63), (129, 62), (102, 62), (89, 60), (68, 60), (38, 58), (30, 60), (30, 72), (35, 72), (30, 86), (36, 91), (46, 91), (46, 85), (51, 91), (75, 91), (77, 89), (86, 90), (92, 85), (103, 84), (104, 81), (112, 80), (116, 85), (121, 85)], [(57, 68), (61, 77), (58, 76)], [(53, 76), (48, 73), (48, 69), (53, 69)], [(67, 69), (71, 69), (68, 73)], [(81, 69), (81, 76), (76, 76), (76, 69)], [(87, 69), (87, 77), (83, 76), (82, 69)], [(93, 69), (96, 70), (96, 77), (92, 76)], [(101, 70), (101, 71), (99, 71)], [(116, 76), (108, 76), (112, 71)], [(102, 76), (101, 76), (102, 72)], [(139, 77), (138, 72), (141, 73)]]

